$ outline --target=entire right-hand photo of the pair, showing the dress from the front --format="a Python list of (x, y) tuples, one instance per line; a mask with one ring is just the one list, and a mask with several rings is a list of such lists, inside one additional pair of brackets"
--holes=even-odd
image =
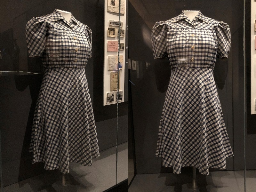
[(129, 0), (129, 192), (255, 190), (251, 3)]

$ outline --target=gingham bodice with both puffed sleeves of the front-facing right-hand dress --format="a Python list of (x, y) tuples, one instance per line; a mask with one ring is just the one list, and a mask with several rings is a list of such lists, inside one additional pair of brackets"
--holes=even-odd
[(228, 57), (231, 37), (229, 26), (205, 17), (201, 12), (190, 21), (184, 11), (152, 30), (154, 58), (168, 57), (171, 67), (214, 68), (216, 56)]

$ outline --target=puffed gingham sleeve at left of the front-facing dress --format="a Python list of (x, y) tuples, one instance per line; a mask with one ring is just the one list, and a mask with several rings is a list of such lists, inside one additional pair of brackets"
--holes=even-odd
[(166, 35), (167, 27), (165, 21), (158, 21), (155, 23), (152, 33), (151, 33), (151, 42), (152, 50), (154, 54), (154, 59), (167, 57), (167, 48), (166, 48)]

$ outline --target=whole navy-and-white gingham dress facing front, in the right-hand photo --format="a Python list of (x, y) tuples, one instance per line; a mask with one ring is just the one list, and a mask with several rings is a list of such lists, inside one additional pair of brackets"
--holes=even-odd
[(168, 57), (172, 68), (156, 157), (176, 174), (195, 166), (208, 175), (233, 156), (213, 79), (216, 57), (228, 57), (230, 43), (229, 26), (200, 11), (192, 21), (182, 11), (153, 27), (154, 58)]

